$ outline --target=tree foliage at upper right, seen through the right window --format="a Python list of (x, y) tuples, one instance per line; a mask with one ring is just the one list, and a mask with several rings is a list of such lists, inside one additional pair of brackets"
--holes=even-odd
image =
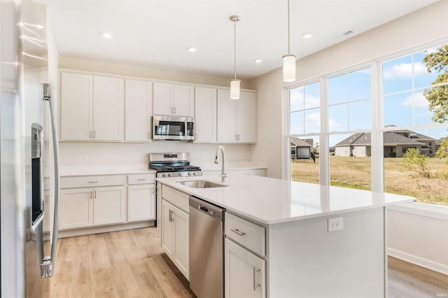
[[(437, 52), (429, 53), (423, 61), (426, 63), (428, 72), (440, 73), (433, 85), (448, 83), (448, 45), (442, 45)], [(423, 95), (428, 99), (429, 110), (434, 113), (433, 121), (448, 122), (448, 85), (426, 89)]]

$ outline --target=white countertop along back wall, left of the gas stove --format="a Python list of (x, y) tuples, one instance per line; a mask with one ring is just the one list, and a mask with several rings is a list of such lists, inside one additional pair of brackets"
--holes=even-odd
[(130, 173), (155, 173), (155, 171), (148, 170), (148, 164), (80, 164), (59, 167), (59, 176), (61, 177)]

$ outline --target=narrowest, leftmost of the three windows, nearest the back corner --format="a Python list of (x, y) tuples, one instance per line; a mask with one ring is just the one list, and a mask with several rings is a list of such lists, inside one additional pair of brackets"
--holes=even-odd
[(291, 180), (319, 183), (321, 85), (303, 85), (289, 94)]

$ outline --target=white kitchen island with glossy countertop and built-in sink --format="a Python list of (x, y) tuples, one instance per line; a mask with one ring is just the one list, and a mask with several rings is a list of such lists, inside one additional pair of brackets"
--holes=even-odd
[[(189, 195), (226, 209), (225, 297), (387, 296), (387, 206), (413, 197), (248, 175), (229, 176), (211, 188), (183, 180), (220, 184), (221, 178), (158, 182), (162, 204), (174, 201), (184, 213)], [(163, 238), (164, 232), (162, 246)], [(177, 260), (184, 259), (188, 278), (183, 253)]]

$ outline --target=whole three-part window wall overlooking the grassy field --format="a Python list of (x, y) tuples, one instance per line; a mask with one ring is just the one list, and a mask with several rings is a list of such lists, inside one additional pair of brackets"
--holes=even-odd
[[(322, 98), (320, 83), (290, 90), (291, 179), (365, 190), (374, 185), (448, 206), (448, 45), (372, 65), (321, 77)], [(381, 78), (374, 80), (376, 90), (372, 78)], [(374, 176), (373, 157), (384, 164)]]

